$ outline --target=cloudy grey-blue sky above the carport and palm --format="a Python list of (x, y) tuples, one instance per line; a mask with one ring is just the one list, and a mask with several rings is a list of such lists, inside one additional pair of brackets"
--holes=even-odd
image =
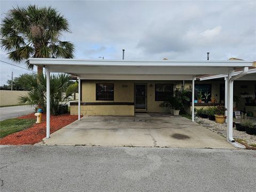
[[(78, 59), (256, 60), (255, 1), (2, 1), (1, 19), (14, 6), (55, 7), (68, 19)], [(1, 51), (1, 60), (7, 60)], [(17, 65), (17, 63), (14, 63)], [(25, 65), (20, 65), (26, 67)], [(29, 73), (1, 62), (1, 85)]]

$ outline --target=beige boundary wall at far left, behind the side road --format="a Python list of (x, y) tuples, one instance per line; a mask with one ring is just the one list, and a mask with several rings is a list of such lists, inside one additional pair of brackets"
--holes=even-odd
[(0, 106), (18, 105), (19, 97), (27, 94), (27, 91), (0, 90)]

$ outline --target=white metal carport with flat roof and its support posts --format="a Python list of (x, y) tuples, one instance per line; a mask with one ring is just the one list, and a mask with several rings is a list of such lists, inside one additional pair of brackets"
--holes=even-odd
[[(81, 79), (104, 80), (189, 80), (193, 84), (192, 121), (194, 121), (194, 93), (196, 76), (227, 75), (233, 79), (234, 70), (253, 65), (252, 61), (143, 61), (143, 60), (78, 60), (30, 58), (32, 65), (44, 66), (46, 71), (46, 138), (50, 138), (50, 73), (68, 73)], [(244, 74), (243, 74), (244, 75)], [(79, 86), (80, 87), (80, 86)], [(78, 98), (78, 119), (80, 119), (80, 92)], [(233, 81), (228, 84), (228, 141), (234, 141), (233, 134)], [(231, 135), (231, 137), (230, 137)]]

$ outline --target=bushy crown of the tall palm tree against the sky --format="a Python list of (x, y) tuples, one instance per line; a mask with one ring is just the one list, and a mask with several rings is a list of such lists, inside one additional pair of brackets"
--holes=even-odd
[[(26, 61), (33, 69), (29, 58), (73, 58), (74, 44), (60, 41), (60, 36), (68, 32), (69, 23), (52, 7), (29, 5), (16, 7), (6, 13), (1, 23), (1, 46), (8, 51), (14, 62)], [(37, 66), (41, 74), (43, 67)]]

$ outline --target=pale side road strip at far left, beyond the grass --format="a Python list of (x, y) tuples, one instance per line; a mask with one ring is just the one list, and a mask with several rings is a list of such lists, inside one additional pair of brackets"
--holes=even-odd
[(9, 118), (15, 118), (22, 115), (27, 115), (35, 112), (34, 107), (26, 106), (11, 106), (0, 107), (0, 121)]

